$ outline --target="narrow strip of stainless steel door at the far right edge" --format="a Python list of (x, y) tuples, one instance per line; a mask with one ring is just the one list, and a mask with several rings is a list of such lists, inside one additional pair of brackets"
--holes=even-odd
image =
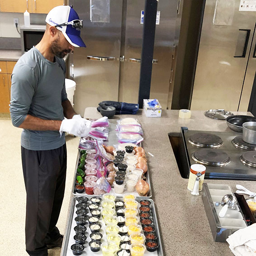
[(256, 71), (256, 33), (253, 35), (253, 40), (250, 49), (250, 56), (247, 64), (246, 75), (243, 84), (243, 90), (238, 111), (247, 111), (251, 97), (252, 85)]

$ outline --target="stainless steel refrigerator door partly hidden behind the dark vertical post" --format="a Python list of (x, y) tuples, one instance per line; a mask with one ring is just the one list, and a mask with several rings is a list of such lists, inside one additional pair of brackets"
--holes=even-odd
[[(125, 59), (120, 66), (119, 100), (129, 103), (138, 102), (143, 33), (140, 18), (144, 6), (145, 1), (127, 0)], [(161, 0), (157, 6), (160, 24), (156, 25), (150, 98), (157, 98), (163, 108), (167, 106), (170, 86), (176, 8), (176, 0)]]

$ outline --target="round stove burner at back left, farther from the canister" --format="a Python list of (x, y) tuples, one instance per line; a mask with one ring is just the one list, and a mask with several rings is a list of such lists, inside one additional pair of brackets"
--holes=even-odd
[(198, 147), (219, 147), (223, 144), (220, 137), (211, 133), (194, 133), (189, 142)]

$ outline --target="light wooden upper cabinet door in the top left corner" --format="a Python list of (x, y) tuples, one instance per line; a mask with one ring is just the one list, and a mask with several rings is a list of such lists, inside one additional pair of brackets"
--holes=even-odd
[(24, 13), (28, 9), (26, 0), (0, 0), (0, 11), (11, 13)]

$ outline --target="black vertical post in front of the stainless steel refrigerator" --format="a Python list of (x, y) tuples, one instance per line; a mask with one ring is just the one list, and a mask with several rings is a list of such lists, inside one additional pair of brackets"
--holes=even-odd
[(143, 21), (143, 38), (141, 54), (141, 71), (139, 86), (139, 108), (142, 108), (143, 99), (149, 99), (152, 60), (154, 52), (154, 41), (156, 31), (156, 10), (157, 0), (145, 0), (144, 21)]

